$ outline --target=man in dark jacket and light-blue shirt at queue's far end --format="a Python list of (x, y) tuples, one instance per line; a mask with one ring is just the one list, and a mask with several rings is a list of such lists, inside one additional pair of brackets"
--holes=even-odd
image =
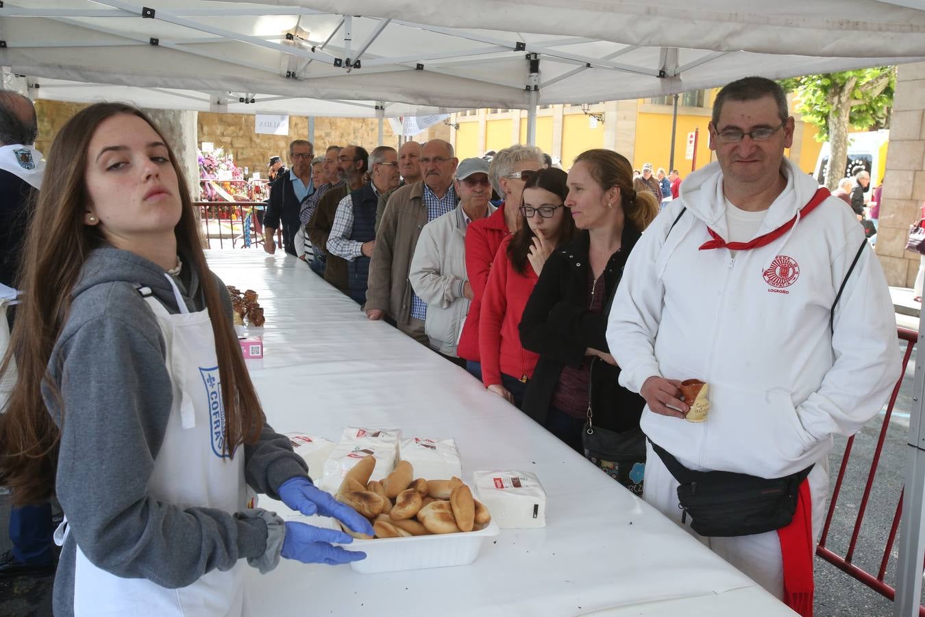
[(292, 168), (281, 172), (270, 187), (270, 199), (264, 214), (264, 250), (271, 255), (276, 253), (277, 243), (274, 237), (279, 224), (283, 227), (283, 248), (286, 253), (297, 257), (295, 234), (302, 223), (299, 210), (302, 202), (314, 193), (312, 182), (312, 159), (314, 145), (305, 140), (290, 143)]

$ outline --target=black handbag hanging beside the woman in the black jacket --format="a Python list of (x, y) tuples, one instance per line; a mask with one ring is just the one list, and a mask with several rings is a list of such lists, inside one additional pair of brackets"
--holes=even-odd
[[(591, 369), (598, 358), (591, 361)], [(581, 432), (585, 458), (624, 487), (642, 496), (642, 479), (646, 471), (646, 436), (638, 426), (623, 433), (594, 426), (591, 409), (591, 386), (587, 394), (587, 421)]]

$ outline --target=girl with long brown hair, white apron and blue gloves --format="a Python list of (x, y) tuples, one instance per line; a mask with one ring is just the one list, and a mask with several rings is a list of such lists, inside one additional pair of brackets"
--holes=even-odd
[(187, 184), (141, 111), (91, 105), (58, 132), (18, 287), (0, 473), (15, 502), (64, 510), (56, 614), (240, 614), (241, 558), (364, 557), (246, 507), (250, 486), (372, 533), (265, 423)]

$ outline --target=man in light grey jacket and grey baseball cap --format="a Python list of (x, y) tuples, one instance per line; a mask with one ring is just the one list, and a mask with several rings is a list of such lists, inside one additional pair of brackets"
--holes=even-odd
[(408, 278), (414, 293), (427, 302), (424, 331), (430, 347), (453, 364), (465, 367), (456, 346), (473, 298), (465, 268), (465, 233), (473, 221), (491, 215), (488, 162), (467, 158), (453, 183), (460, 204), (421, 229)]

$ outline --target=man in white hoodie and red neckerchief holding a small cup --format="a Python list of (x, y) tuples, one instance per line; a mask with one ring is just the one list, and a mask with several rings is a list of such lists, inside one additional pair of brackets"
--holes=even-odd
[[(833, 435), (881, 410), (900, 363), (880, 263), (845, 204), (783, 157), (793, 135), (773, 81), (722, 89), (709, 123), (718, 161), (685, 178), (636, 244), (607, 339), (620, 383), (648, 403), (643, 430), (668, 457), (749, 482), (794, 475), (790, 524), (737, 535), (726, 508), (732, 537), (687, 528), (807, 614)], [(688, 378), (708, 384), (705, 422), (685, 421)], [(649, 445), (644, 498), (686, 527), (679, 484)]]

